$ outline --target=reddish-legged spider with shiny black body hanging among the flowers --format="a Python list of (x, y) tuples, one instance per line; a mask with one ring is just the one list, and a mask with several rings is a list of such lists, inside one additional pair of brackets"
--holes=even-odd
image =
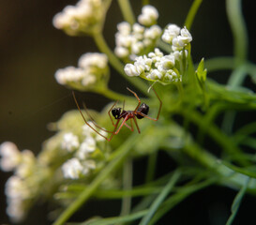
[[(103, 137), (104, 139), (106, 139), (108, 142), (110, 142), (110, 141), (113, 139), (113, 135), (118, 134), (119, 131), (121, 130), (121, 128), (123, 128), (124, 126), (126, 126), (126, 127), (129, 128), (131, 131), (133, 131), (134, 128), (133, 128), (133, 123), (132, 123), (132, 121), (134, 121), (134, 124), (135, 124), (135, 126), (136, 126), (138, 132), (141, 133), (141, 130), (140, 130), (139, 126), (138, 126), (138, 123), (137, 123), (136, 118), (137, 118), (137, 119), (147, 118), (147, 119), (150, 119), (150, 120), (153, 120), (153, 121), (158, 121), (159, 114), (160, 114), (161, 107), (162, 107), (162, 101), (161, 101), (161, 99), (158, 97), (158, 94), (157, 94), (157, 92), (155, 91), (155, 89), (152, 88), (153, 91), (155, 92), (155, 94), (156, 94), (158, 100), (159, 100), (159, 109), (158, 109), (158, 116), (157, 116), (157, 118), (151, 118), (151, 117), (149, 117), (149, 116), (147, 115), (147, 113), (149, 112), (149, 106), (146, 105), (145, 103), (142, 103), (142, 104), (141, 104), (141, 100), (140, 100), (140, 98), (137, 96), (137, 94), (136, 94), (135, 92), (131, 91), (128, 87), (127, 87), (127, 89), (128, 89), (129, 92), (131, 92), (131, 93), (134, 95), (135, 98), (138, 99), (139, 102), (138, 102), (138, 105), (136, 106), (136, 108), (135, 108), (134, 111), (125, 111), (125, 109), (124, 109), (124, 107), (125, 107), (125, 102), (123, 103), (123, 109), (122, 109), (122, 108), (114, 108), (114, 106), (116, 105), (116, 103), (117, 103), (118, 101), (115, 101), (115, 102), (114, 102), (113, 106), (111, 107), (111, 109), (110, 109), (109, 112), (108, 112), (108, 114), (109, 114), (109, 116), (110, 116), (110, 118), (111, 118), (113, 127), (114, 127), (114, 128), (113, 128), (113, 131), (107, 130), (107, 129), (104, 129), (104, 128), (100, 128), (100, 127), (98, 126), (98, 124), (96, 124), (96, 122), (92, 119), (92, 116), (91, 116), (91, 115), (88, 113), (88, 111), (86, 110), (85, 104), (83, 104), (85, 113), (87, 113), (88, 117), (91, 119), (91, 121), (92, 121), (92, 123), (94, 124), (94, 126), (95, 126), (96, 128), (99, 128), (99, 129), (105, 131), (105, 132), (111, 133), (110, 138), (108, 138), (108, 137), (104, 136), (103, 134), (101, 134), (100, 132), (98, 132), (98, 130), (97, 130), (96, 128), (94, 128), (92, 125), (90, 125), (90, 124), (86, 121), (86, 119), (85, 119), (85, 117), (84, 117), (84, 115), (83, 115), (83, 113), (82, 113), (82, 111), (81, 111), (81, 109), (80, 109), (80, 106), (79, 106), (79, 104), (78, 104), (77, 98), (75, 97), (75, 93), (72, 91), (73, 98), (74, 98), (74, 100), (75, 100), (75, 103), (76, 103), (76, 105), (77, 105), (77, 108), (78, 108), (79, 112), (81, 113), (81, 115), (82, 115), (82, 117), (83, 117), (84, 123), (85, 123), (87, 126), (89, 126), (90, 128), (92, 128), (95, 132), (97, 132), (98, 135), (100, 135), (101, 137)], [(112, 115), (113, 115), (113, 118), (116, 119), (116, 122), (115, 122), (115, 123), (113, 122), (113, 118), (112, 118), (111, 113), (112, 113)], [(121, 121), (121, 119), (123, 119), (123, 121), (122, 121), (121, 125), (118, 127), (118, 124), (119, 124), (119, 122)], [(128, 121), (129, 119), (130, 119), (130, 127), (129, 127), (128, 124), (127, 124), (127, 121)]]

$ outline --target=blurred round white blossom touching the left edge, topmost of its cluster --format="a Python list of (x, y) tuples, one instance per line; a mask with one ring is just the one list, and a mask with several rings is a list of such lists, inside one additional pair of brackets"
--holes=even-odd
[(14, 170), (22, 160), (22, 155), (14, 143), (5, 142), (0, 145), (0, 167), (3, 171)]

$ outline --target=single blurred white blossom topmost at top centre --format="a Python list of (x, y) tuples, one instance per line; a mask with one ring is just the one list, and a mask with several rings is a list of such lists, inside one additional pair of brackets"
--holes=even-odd
[(150, 26), (157, 23), (158, 20), (158, 10), (152, 6), (144, 6), (142, 9), (142, 14), (139, 15), (138, 21), (139, 23)]

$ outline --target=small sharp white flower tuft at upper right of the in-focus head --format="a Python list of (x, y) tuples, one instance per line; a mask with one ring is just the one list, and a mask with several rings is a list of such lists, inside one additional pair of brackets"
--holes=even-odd
[(171, 44), (173, 51), (181, 51), (192, 41), (192, 36), (186, 26), (181, 29), (175, 24), (169, 24), (163, 32), (162, 40)]

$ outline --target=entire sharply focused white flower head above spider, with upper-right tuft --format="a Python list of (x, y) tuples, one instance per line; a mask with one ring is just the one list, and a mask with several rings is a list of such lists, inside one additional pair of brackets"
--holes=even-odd
[(147, 55), (138, 56), (133, 64), (125, 66), (125, 72), (129, 77), (140, 76), (151, 82), (182, 82), (188, 65), (189, 42), (192, 40), (186, 27), (180, 28), (170, 24), (164, 30), (163, 41), (172, 46), (173, 52), (164, 55), (158, 48)]

